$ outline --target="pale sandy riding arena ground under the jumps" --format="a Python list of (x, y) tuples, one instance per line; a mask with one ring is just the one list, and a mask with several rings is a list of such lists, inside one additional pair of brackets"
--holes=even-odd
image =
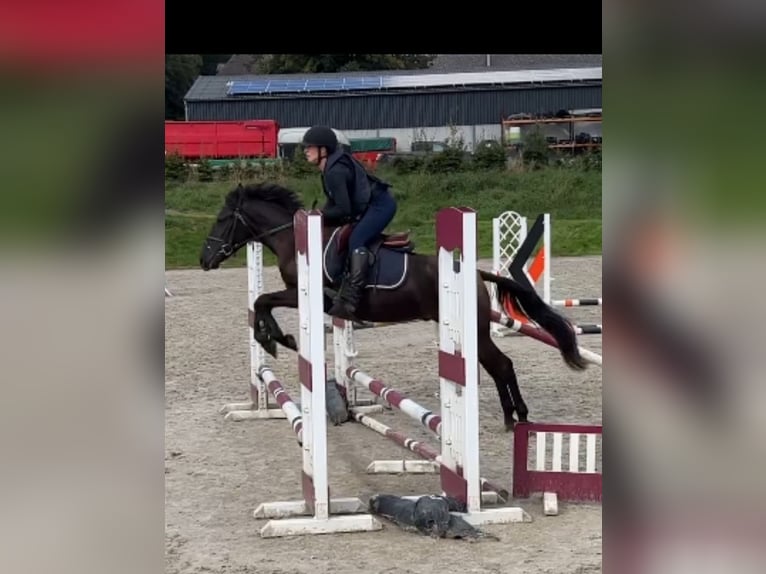
[[(482, 267), (489, 268), (487, 262)], [(552, 295), (601, 295), (601, 257), (555, 258)], [(432, 540), (383, 521), (371, 533), (261, 539), (261, 502), (300, 498), (301, 451), (284, 420), (224, 421), (218, 409), (245, 400), (249, 380), (247, 275), (244, 269), (169, 271), (165, 299), (165, 516), (168, 573), (258, 572), (334, 574), (482, 572), (585, 574), (601, 572), (601, 506), (560, 503), (542, 514), (539, 496), (516, 500), (531, 523), (489, 526), (500, 541)], [(265, 288), (279, 285), (274, 268)], [(581, 323), (601, 323), (599, 307), (566, 309)], [(277, 310), (285, 332), (296, 332), (297, 312)], [(438, 408), (435, 325), (410, 323), (357, 331), (358, 365), (422, 404)], [(495, 339), (515, 362), (532, 420), (601, 422), (601, 370), (570, 371), (558, 352), (522, 337)], [(580, 337), (601, 353), (601, 336)], [(328, 343), (331, 338), (328, 337)], [(328, 348), (328, 356), (331, 350)], [(274, 363), (299, 398), (296, 356)], [(482, 371), (482, 380), (489, 381)], [(481, 474), (511, 485), (512, 437), (502, 429), (494, 385), (480, 389)], [(405, 415), (378, 418), (412, 437), (431, 440)], [(373, 459), (414, 458), (356, 423), (328, 427), (334, 496), (438, 493), (436, 476), (367, 475)], [(437, 446), (435, 443), (434, 446)]]

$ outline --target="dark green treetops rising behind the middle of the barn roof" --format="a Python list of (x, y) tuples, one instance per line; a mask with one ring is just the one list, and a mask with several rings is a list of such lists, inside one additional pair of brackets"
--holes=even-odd
[(261, 74), (316, 74), (363, 70), (419, 70), (436, 54), (270, 54), (258, 63)]

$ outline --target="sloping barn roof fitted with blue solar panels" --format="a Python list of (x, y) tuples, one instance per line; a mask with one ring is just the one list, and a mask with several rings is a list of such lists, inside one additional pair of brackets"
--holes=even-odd
[[(432, 73), (403, 74), (401, 70), (389, 71), (389, 74), (377, 74), (379, 78), (378, 89), (417, 89), (427, 87), (461, 87), (461, 86), (491, 86), (503, 84), (523, 83), (546, 83), (546, 82), (575, 82), (593, 81), (602, 79), (601, 67), (590, 68), (556, 68), (540, 70), (516, 70), (516, 71), (484, 71), (466, 73)], [(398, 73), (397, 73), (398, 72)], [(234, 86), (239, 86), (239, 92), (246, 93), (249, 97), (268, 93), (269, 85), (281, 85), (282, 92), (311, 92), (311, 85), (316, 91), (324, 91), (318, 88), (322, 80), (338, 82), (345, 77), (359, 78), (371, 77), (370, 72), (357, 74), (311, 74), (300, 76), (297, 74), (271, 74), (262, 76), (200, 76), (194, 82), (186, 94), (187, 101), (217, 100), (229, 96)], [(301, 81), (303, 80), (303, 81)], [(313, 83), (313, 84), (312, 84)], [(300, 86), (300, 89), (288, 86)], [(370, 89), (367, 87), (366, 89)], [(273, 91), (272, 91), (273, 93)]]

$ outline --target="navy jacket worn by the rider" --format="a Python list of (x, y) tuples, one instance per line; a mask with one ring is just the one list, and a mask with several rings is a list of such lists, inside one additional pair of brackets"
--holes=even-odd
[(327, 157), (322, 172), (322, 189), (327, 203), (322, 215), (328, 225), (355, 221), (367, 210), (370, 201), (389, 184), (367, 173), (350, 153), (338, 149)]

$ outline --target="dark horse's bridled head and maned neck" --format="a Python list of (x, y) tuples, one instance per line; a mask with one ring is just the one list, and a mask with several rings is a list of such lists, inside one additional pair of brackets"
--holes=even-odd
[(289, 189), (275, 184), (242, 186), (226, 195), (223, 207), (200, 253), (200, 267), (217, 269), (250, 241), (269, 245), (275, 234), (292, 226), (303, 205)]

